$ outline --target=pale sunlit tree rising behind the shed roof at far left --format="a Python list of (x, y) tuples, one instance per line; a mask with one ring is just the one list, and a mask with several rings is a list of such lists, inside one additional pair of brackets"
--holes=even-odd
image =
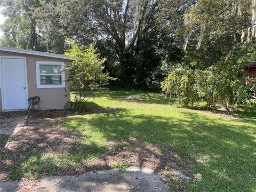
[(39, 1), (4, 0), (0, 5), (4, 7), (3, 14), (7, 17), (1, 26), (4, 33), (1, 45), (37, 51), (47, 50), (33, 18)]

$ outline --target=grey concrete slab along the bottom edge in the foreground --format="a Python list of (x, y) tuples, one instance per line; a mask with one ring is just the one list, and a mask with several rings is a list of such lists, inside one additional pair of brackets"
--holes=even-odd
[(88, 172), (78, 177), (47, 177), (38, 181), (3, 182), (0, 191), (170, 191), (150, 169), (129, 167)]

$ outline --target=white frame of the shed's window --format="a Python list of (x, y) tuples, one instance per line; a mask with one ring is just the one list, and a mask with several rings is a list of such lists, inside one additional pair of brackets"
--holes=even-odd
[[(55, 85), (55, 84), (40, 84), (40, 70), (39, 65), (61, 65), (61, 84)], [(65, 87), (65, 63), (60, 61), (36, 61), (36, 86), (37, 88), (61, 88)]]

